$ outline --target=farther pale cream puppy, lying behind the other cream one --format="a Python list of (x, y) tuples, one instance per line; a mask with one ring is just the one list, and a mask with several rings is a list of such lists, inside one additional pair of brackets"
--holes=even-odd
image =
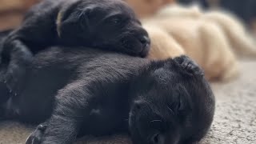
[(202, 11), (198, 5), (193, 6), (166, 6), (159, 10), (156, 17), (170, 18), (194, 18), (198, 21), (214, 22), (226, 35), (230, 46), (237, 52), (238, 56), (256, 58), (256, 49), (254, 38), (246, 30), (243, 23), (234, 16), (222, 10)]

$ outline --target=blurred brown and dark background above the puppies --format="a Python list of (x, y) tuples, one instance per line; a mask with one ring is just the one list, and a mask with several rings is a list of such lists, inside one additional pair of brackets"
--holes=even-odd
[[(22, 16), (30, 6), (40, 0), (0, 0), (0, 30), (18, 26)], [(203, 8), (222, 8), (236, 14), (246, 26), (256, 33), (256, 1), (255, 0), (125, 0), (134, 7), (139, 17), (150, 16), (170, 3), (190, 5), (198, 2)], [(143, 2), (139, 2), (143, 1)], [(145, 5), (145, 3), (147, 3)]]

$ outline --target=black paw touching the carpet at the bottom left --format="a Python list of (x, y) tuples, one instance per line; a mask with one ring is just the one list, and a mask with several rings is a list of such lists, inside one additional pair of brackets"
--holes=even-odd
[(42, 144), (43, 134), (46, 130), (46, 125), (41, 124), (36, 130), (26, 139), (26, 144)]

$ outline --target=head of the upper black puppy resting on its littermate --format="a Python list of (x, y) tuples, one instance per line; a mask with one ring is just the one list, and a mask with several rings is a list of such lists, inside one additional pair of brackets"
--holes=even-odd
[(77, 0), (58, 15), (58, 34), (67, 43), (142, 57), (149, 51), (150, 38), (126, 2)]

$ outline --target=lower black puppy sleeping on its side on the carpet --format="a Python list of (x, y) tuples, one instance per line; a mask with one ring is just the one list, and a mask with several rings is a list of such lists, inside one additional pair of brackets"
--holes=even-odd
[(70, 144), (84, 134), (127, 131), (134, 144), (190, 144), (213, 121), (214, 94), (186, 56), (150, 61), (55, 46), (36, 54), (26, 71), (24, 89), (2, 104), (1, 114), (43, 122), (26, 144)]

